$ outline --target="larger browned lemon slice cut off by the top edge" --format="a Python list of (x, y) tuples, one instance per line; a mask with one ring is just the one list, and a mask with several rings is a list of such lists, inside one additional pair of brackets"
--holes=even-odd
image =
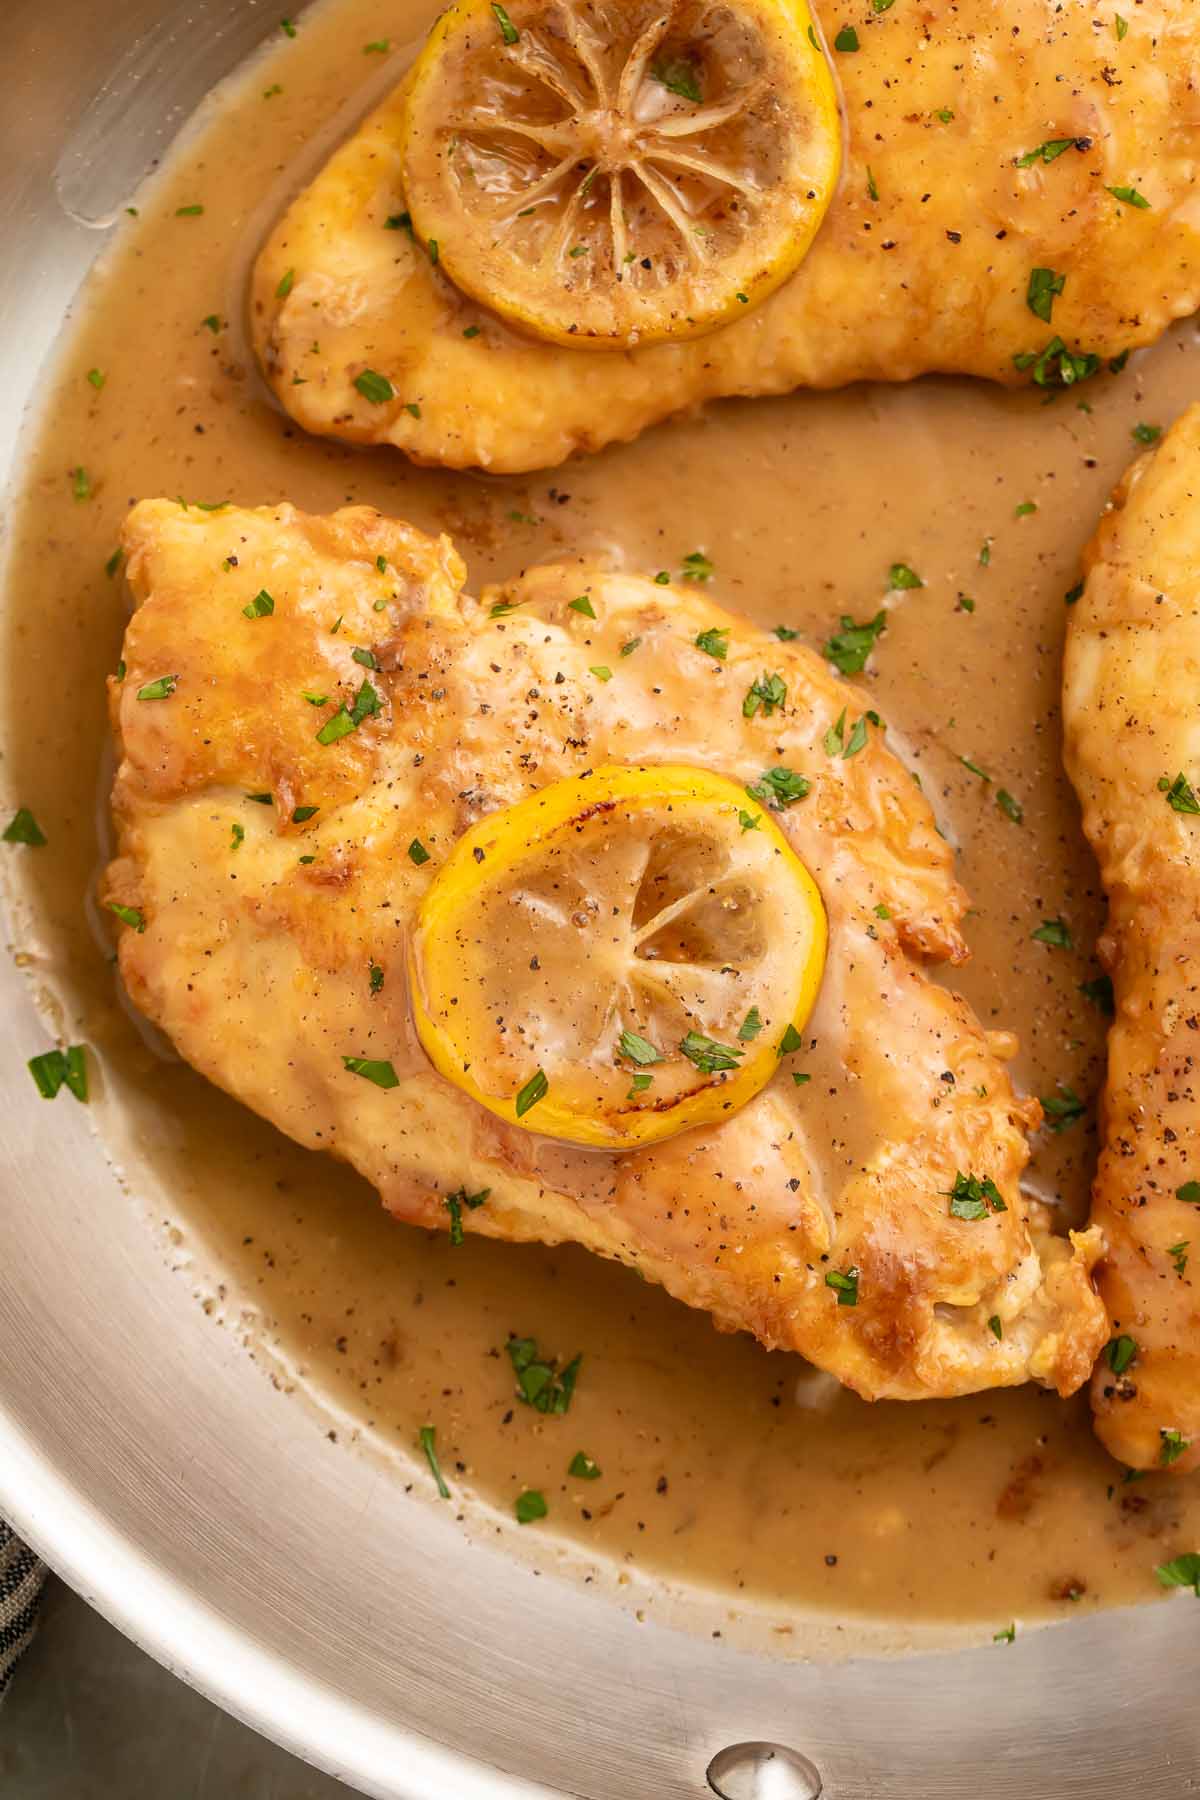
[(457, 0), (403, 119), (414, 234), (558, 344), (694, 337), (799, 266), (842, 133), (804, 0)]

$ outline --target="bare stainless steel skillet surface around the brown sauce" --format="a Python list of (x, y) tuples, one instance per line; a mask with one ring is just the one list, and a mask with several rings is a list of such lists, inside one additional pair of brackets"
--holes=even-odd
[[(255, 0), (7, 0), (4, 23), (11, 479), (43, 360), (104, 245), (63, 198), (115, 211), (277, 18)], [(31, 929), (18, 920), (11, 941)], [(25, 1058), (45, 1030), (7, 959), (0, 995), (0, 1512), (232, 1712), (405, 1800), (694, 1800), (711, 1766), (729, 1800), (1182, 1800), (1200, 1786), (1200, 1609), (1186, 1600), (1011, 1647), (797, 1663), (637, 1624), (466, 1544), (367, 1458), (333, 1454), (214, 1332), (83, 1111), (32, 1093)]]

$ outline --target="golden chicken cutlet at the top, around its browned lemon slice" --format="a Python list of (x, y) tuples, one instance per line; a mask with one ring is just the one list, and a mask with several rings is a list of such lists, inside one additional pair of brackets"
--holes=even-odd
[[(1196, 310), (1193, 0), (1128, 22), (1108, 0), (851, 11), (858, 47), (833, 52), (846, 164), (808, 257), (684, 344), (567, 349), (461, 293), (405, 229), (401, 85), (257, 261), (254, 344), (282, 407), (419, 463), (520, 472), (723, 394), (928, 371), (1054, 385)], [(846, 9), (817, 13), (831, 43)]]

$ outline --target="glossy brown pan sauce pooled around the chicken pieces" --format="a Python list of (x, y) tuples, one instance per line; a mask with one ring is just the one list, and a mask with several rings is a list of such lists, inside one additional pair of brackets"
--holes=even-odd
[[(317, 511), (358, 500), (453, 533), (473, 587), (572, 553), (653, 571), (703, 549), (718, 599), (811, 643), (844, 612), (869, 619), (892, 563), (916, 569), (925, 585), (891, 596), (865, 680), (961, 844), (975, 961), (955, 981), (984, 1022), (1020, 1033), (1024, 1087), (1087, 1098), (1101, 1080), (1103, 1017), (1079, 992), (1097, 974), (1101, 907), (1060, 765), (1063, 592), (1137, 450), (1132, 428), (1166, 425), (1200, 382), (1195, 329), (1049, 407), (950, 382), (725, 403), (520, 481), (304, 439), (246, 351), (248, 259), (403, 67), (399, 49), (389, 61), (363, 47), (387, 32), (399, 47), (430, 16), (414, 0), (331, 0), (293, 40), (281, 34), (117, 227), (43, 382), (11, 515), (7, 709), (22, 725), (5, 797), (31, 806), (50, 842), (7, 851), (34, 922), (18, 949), (67, 1035), (94, 1048), (97, 1121), (133, 1192), (169, 1193), (166, 1242), (205, 1307), (281, 1384), (309, 1390), (331, 1433), (416, 1458), (432, 1422), (455, 1498), (473, 1490), (511, 1516), (522, 1489), (542, 1489), (549, 1521), (522, 1544), (554, 1530), (590, 1559), (662, 1575), (693, 1595), (705, 1629), (734, 1609), (786, 1631), (820, 1609), (973, 1622), (988, 1636), (1013, 1618), (1150, 1598), (1153, 1564), (1200, 1544), (1200, 1490), (1124, 1485), (1081, 1399), (1022, 1390), (871, 1408), (583, 1251), (470, 1233), (455, 1249), (396, 1226), (345, 1168), (164, 1062), (113, 990), (90, 896), (103, 677), (126, 616), (119, 576), (104, 574), (119, 520), (157, 493)], [(1074, 949), (1031, 940), (1058, 918)], [(853, 1132), (853, 1118), (829, 1129)], [(1063, 1224), (1085, 1211), (1094, 1152), (1088, 1120), (1036, 1139), (1029, 1181)], [(511, 1332), (583, 1352), (565, 1418), (516, 1404)], [(578, 1449), (601, 1480), (567, 1478)], [(417, 1460), (410, 1480), (428, 1487)]]

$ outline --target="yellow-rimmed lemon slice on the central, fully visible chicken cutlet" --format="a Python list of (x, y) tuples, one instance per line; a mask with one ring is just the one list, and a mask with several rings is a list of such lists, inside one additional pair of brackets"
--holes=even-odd
[(745, 1105), (824, 952), (813, 878), (745, 788), (597, 769), (459, 839), (417, 914), (414, 1017), (491, 1112), (621, 1150)]

